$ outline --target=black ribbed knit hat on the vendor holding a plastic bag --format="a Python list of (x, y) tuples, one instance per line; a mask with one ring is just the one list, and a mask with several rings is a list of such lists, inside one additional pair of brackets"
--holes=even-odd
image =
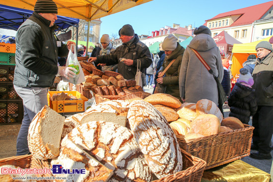
[(37, 13), (55, 13), (58, 14), (58, 7), (53, 0), (37, 0), (34, 6)]

